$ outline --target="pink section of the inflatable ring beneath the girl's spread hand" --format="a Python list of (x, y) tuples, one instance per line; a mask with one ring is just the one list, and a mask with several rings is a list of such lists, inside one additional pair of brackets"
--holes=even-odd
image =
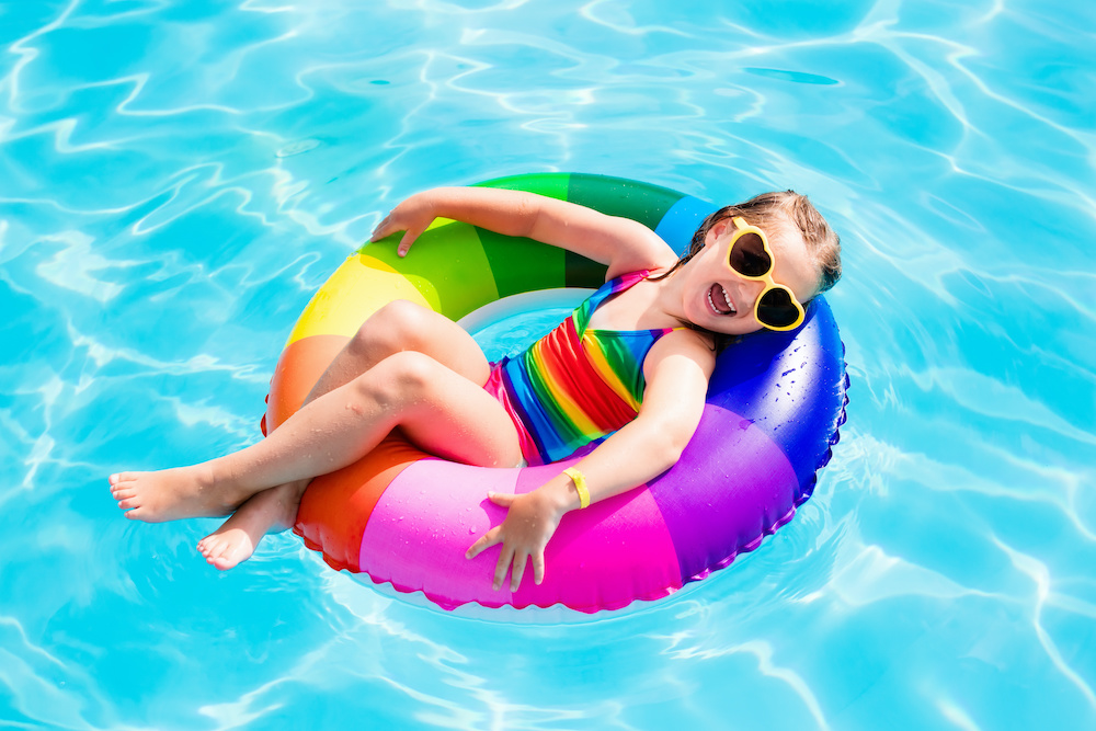
[(646, 489), (566, 515), (545, 553), (539, 586), (530, 564), (513, 595), (509, 580), (500, 591), (491, 590), (500, 546), (465, 559), (468, 547), (506, 515), (487, 499), (488, 492), (530, 492), (575, 461), (522, 470), (439, 459), (411, 465), (374, 509), (362, 537), (362, 570), (399, 591), (421, 591), (447, 608), (468, 602), (492, 607), (562, 602), (594, 612), (681, 589), (673, 541)]

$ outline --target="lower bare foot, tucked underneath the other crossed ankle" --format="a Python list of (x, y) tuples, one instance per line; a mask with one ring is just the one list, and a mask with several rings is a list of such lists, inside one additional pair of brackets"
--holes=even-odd
[(198, 551), (221, 571), (247, 561), (269, 530), (288, 528), (297, 519), (297, 505), (307, 484), (305, 480), (263, 490), (199, 540)]

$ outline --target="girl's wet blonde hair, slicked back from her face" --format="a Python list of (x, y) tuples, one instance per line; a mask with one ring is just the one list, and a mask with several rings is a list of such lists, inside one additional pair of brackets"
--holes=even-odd
[[(774, 236), (791, 221), (807, 243), (807, 252), (814, 259), (819, 272), (814, 296), (826, 292), (841, 278), (841, 239), (818, 212), (806, 195), (795, 191), (773, 191), (755, 195), (745, 203), (720, 208), (708, 216), (693, 235), (693, 242), (673, 269), (662, 276), (670, 276), (688, 260), (704, 249), (705, 239), (711, 227), (722, 220), (741, 216), (751, 226), (756, 226), (767, 236)], [(655, 277), (655, 278), (662, 278)], [(807, 302), (803, 302), (806, 305)]]

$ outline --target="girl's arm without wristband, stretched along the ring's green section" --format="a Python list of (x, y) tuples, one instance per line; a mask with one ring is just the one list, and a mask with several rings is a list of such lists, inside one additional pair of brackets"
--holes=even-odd
[(670, 267), (677, 261), (673, 250), (638, 221), (535, 193), (492, 187), (439, 187), (412, 195), (380, 221), (369, 240), (406, 231), (398, 250), (403, 256), (438, 217), (573, 251), (607, 264), (607, 278)]

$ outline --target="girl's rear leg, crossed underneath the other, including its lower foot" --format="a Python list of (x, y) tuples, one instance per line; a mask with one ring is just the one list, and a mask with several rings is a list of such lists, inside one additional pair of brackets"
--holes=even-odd
[[(335, 356), (305, 403), (350, 382), (386, 357), (406, 350), (431, 355), (482, 386), (490, 370), (482, 351), (470, 335), (459, 328), (454, 331), (452, 325), (447, 318), (406, 300), (383, 307)], [(198, 541), (198, 551), (221, 571), (248, 560), (266, 533), (292, 527), (308, 482), (288, 482), (253, 495), (217, 530)]]

